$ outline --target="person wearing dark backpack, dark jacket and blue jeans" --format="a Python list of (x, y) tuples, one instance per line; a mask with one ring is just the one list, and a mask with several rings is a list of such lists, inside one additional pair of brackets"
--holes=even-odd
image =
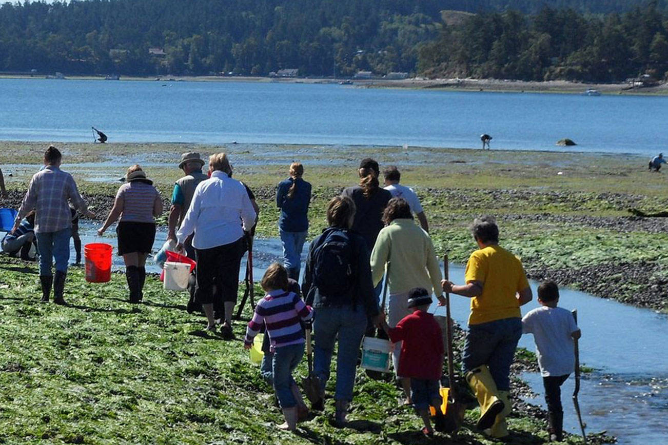
[(321, 399), (313, 409), (323, 410), (325, 384), (335, 343), (336, 367), (335, 425), (345, 426), (348, 406), (353, 400), (355, 368), (367, 318), (378, 324), (378, 301), (371, 284), (369, 249), (360, 235), (351, 230), (355, 203), (337, 196), (327, 205), (328, 228), (309, 248), (302, 285), (307, 304), (313, 306), (315, 357), (313, 374), (320, 383)]

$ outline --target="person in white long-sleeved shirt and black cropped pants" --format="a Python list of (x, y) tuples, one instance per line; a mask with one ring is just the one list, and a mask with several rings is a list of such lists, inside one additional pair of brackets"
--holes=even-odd
[[(176, 232), (180, 250), (193, 234), (197, 260), (195, 298), (202, 304), (208, 330), (215, 332), (214, 303), (223, 303), (226, 339), (233, 338), (232, 312), (236, 304), (244, 229), (255, 224), (256, 213), (246, 188), (229, 177), (232, 167), (225, 153), (209, 157), (210, 179), (195, 188), (181, 228)], [(215, 289), (215, 292), (214, 292)]]

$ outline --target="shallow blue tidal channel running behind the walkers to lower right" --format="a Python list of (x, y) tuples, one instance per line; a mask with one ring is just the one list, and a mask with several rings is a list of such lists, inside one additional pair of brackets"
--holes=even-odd
[[(123, 269), (123, 260), (116, 256), (116, 240), (113, 230), (102, 238), (96, 234), (97, 225), (81, 222), (81, 242), (108, 242), (114, 246), (113, 268)], [(154, 252), (166, 239), (165, 228), (158, 228)], [(305, 246), (303, 260), (308, 246)], [(71, 252), (74, 258), (74, 252)], [(253, 249), (253, 274), (256, 281), (262, 277), (269, 264), (281, 259), (281, 244), (275, 238), (256, 238)], [(240, 280), (244, 278), (246, 259), (242, 260)], [(147, 262), (149, 272), (160, 272), (152, 259)], [(450, 266), (450, 279), (458, 284), (464, 281), (464, 267)], [(536, 308), (538, 283), (530, 282), (534, 300), (522, 308), (522, 314)], [(169, 291), (166, 291), (169, 292)], [(184, 302), (186, 294), (184, 294)], [(452, 296), (453, 318), (466, 326), (469, 312), (468, 299)], [(560, 289), (559, 306), (578, 310), (580, 339), (580, 363), (592, 372), (582, 375), (580, 384), (580, 410), (587, 432), (601, 432), (616, 436), (619, 444), (660, 444), (668, 438), (668, 316), (652, 310), (634, 308), (612, 300), (604, 300), (589, 294)], [(436, 308), (445, 315), (443, 308)], [(520, 346), (533, 351), (533, 336), (525, 335)], [(525, 372), (522, 378), (538, 394), (529, 402), (545, 408), (542, 379), (536, 372)], [(574, 378), (562, 386), (564, 406), (564, 430), (579, 434), (578, 421), (571, 396)]]

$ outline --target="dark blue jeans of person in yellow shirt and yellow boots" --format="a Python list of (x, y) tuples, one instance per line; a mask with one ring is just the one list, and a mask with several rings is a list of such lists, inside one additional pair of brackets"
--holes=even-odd
[(510, 390), (510, 364), (522, 336), (521, 318), (504, 318), (468, 326), (464, 339), (464, 373), (487, 365), (498, 390)]

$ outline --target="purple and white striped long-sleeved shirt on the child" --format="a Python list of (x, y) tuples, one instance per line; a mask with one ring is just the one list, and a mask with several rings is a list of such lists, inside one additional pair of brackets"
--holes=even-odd
[(301, 344), (304, 342), (304, 337), (299, 320), (311, 320), (312, 316), (311, 307), (306, 306), (297, 294), (281, 289), (271, 291), (255, 306), (255, 314), (253, 320), (248, 322), (244, 342), (253, 343), (253, 338), (265, 324), (272, 350), (281, 346)]

